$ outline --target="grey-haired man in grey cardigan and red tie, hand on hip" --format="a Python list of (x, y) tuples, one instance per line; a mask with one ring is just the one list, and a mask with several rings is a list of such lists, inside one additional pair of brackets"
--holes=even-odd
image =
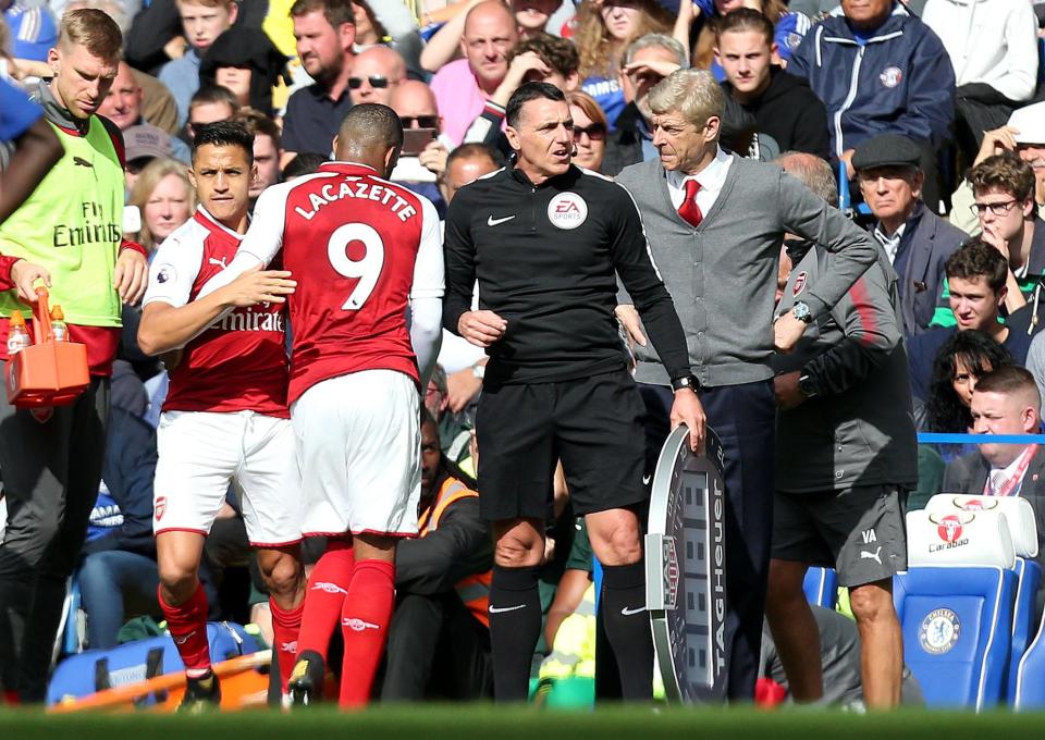
[[(718, 146), (723, 92), (708, 72), (679, 70), (650, 92), (660, 160), (625, 169), (664, 284), (686, 330), (708, 423), (726, 455), (727, 695), (750, 700), (759, 665), (773, 522), (774, 353), (789, 351), (874, 263), (880, 247), (775, 165)], [(775, 323), (780, 245), (798, 234), (836, 252)], [(636, 380), (648, 407), (648, 460), (669, 430), (672, 393), (637, 316), (618, 316), (639, 346)], [(649, 466), (652, 470), (652, 465)]]

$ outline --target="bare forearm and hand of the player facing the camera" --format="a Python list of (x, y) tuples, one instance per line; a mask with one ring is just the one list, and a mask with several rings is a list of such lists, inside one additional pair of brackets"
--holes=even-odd
[(162, 297), (150, 300), (142, 313), (138, 346), (146, 355), (184, 347), (226, 311), (256, 304), (282, 304), (297, 283), (285, 270), (254, 267), (229, 285), (182, 306)]

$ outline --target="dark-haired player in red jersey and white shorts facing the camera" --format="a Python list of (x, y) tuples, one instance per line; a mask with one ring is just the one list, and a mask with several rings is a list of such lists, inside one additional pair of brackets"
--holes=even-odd
[(296, 657), (305, 577), (298, 557), (300, 477), (286, 406), (285, 271), (253, 271), (199, 289), (236, 254), (247, 229), (253, 136), (241, 124), (200, 126), (193, 143), (199, 208), (160, 246), (149, 270), (138, 343), (176, 350), (157, 435), (153, 530), (160, 606), (185, 664), (183, 707), (218, 703), (210, 666), (204, 540), (230, 484), (271, 594), (283, 689)]

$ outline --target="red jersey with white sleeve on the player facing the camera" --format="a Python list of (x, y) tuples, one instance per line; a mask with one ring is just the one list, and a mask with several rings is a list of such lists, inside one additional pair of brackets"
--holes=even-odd
[[(243, 237), (200, 207), (164, 239), (149, 268), (145, 303), (184, 306), (221, 272)], [(278, 268), (274, 268), (278, 269)], [(288, 418), (282, 306), (237, 308), (185, 345), (164, 411), (242, 411)]]

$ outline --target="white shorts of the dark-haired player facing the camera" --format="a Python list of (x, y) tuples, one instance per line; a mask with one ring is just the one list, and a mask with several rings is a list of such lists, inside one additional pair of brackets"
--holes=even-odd
[(302, 486), (290, 419), (254, 411), (164, 411), (152, 530), (209, 534), (230, 483), (256, 547), (302, 539)]

